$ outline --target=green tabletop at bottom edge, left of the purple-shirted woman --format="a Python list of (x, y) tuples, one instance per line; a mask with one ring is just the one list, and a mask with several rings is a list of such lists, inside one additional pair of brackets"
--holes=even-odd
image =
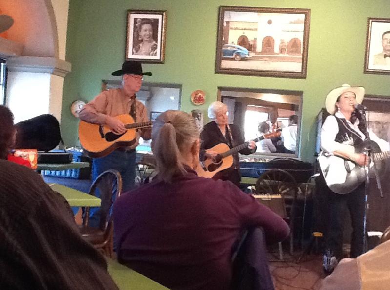
[(120, 290), (168, 290), (136, 271), (107, 258), (108, 273)]

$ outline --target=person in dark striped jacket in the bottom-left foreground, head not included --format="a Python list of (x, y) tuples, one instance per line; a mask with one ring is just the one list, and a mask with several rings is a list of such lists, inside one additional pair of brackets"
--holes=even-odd
[(59, 193), (6, 160), (0, 176), (0, 289), (118, 290)]

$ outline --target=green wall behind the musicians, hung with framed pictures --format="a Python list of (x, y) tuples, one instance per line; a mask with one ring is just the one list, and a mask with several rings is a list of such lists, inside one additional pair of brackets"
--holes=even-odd
[[(308, 73), (306, 79), (215, 74), (218, 7), (310, 8)], [(314, 4), (315, 3), (315, 4)], [(389, 0), (70, 0), (66, 60), (72, 72), (65, 77), (62, 134), (67, 146), (77, 142), (78, 119), (69, 107), (76, 99), (91, 100), (102, 79), (115, 79), (121, 67), (126, 38), (126, 10), (166, 10), (165, 64), (144, 65), (148, 81), (183, 85), (181, 109), (206, 111), (217, 98), (217, 87), (302, 90), (301, 153), (312, 161), (315, 119), (330, 89), (344, 83), (364, 86), (367, 94), (390, 95), (390, 76), (364, 74), (367, 18), (390, 16)], [(206, 93), (206, 104), (190, 101), (195, 89)]]

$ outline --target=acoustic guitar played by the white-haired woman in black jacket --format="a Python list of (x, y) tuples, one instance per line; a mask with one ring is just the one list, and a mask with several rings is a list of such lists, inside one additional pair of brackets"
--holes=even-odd
[[(273, 138), (273, 137), (279, 137), (280, 131), (282, 129), (279, 129), (277, 132), (264, 134), (263, 136), (257, 137), (256, 139), (253, 139), (255, 142), (259, 142), (265, 138)], [(226, 143), (220, 143), (215, 145), (212, 148), (209, 148), (205, 150), (206, 152), (208, 150), (212, 150), (217, 152), (218, 154), (214, 156), (213, 158), (206, 158), (204, 161), (201, 161), (201, 164), (196, 169), (196, 172), (198, 176), (206, 177), (206, 178), (212, 178), (214, 175), (216, 175), (218, 172), (230, 168), (233, 165), (233, 154), (239, 152), (240, 150), (248, 147), (249, 142), (245, 142), (243, 144), (237, 145), (233, 148), (229, 148), (229, 146)]]

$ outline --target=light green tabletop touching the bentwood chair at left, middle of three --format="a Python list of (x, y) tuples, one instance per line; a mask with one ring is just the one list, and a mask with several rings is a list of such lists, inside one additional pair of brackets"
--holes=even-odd
[(70, 206), (100, 206), (102, 202), (100, 198), (61, 184), (51, 183), (49, 186), (60, 193)]

